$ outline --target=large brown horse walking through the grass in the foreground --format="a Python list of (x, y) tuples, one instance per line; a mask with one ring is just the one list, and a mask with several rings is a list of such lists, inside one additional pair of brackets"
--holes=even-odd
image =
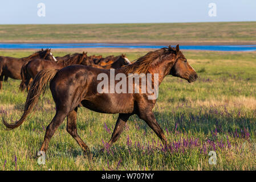
[[(188, 64), (178, 45), (176, 48), (169, 46), (169, 48), (161, 48), (148, 52), (133, 64), (113, 70), (115, 71), (115, 76), (120, 73), (127, 76), (124, 77), (125, 80), (128, 80), (128, 74), (131, 73), (151, 73), (154, 74), (155, 81), (155, 74), (157, 74), (159, 84), (167, 75), (180, 77), (188, 80), (188, 82), (193, 82), (197, 79), (196, 71)], [(76, 115), (80, 103), (84, 107), (99, 113), (119, 113), (112, 137), (108, 142), (109, 146), (120, 137), (125, 123), (133, 114), (137, 114), (140, 119), (143, 119), (155, 131), (164, 146), (166, 146), (167, 142), (164, 132), (159, 123), (157, 123), (152, 111), (156, 104), (156, 98), (149, 100), (148, 96), (150, 93), (98, 92), (97, 85), (100, 81), (97, 77), (99, 74), (103, 73), (111, 77), (111, 71), (113, 70), (97, 69), (84, 65), (71, 65), (60, 70), (44, 69), (36, 75), (32, 83), (21, 119), (15, 123), (7, 123), (5, 119), (2, 119), (2, 122), (7, 129), (15, 129), (20, 126), (25, 121), (27, 115), (31, 113), (33, 107), (39, 100), (40, 94), (46, 89), (47, 82), (50, 81), (52, 97), (56, 104), (56, 114), (47, 126), (40, 151), (47, 151), (52, 135), (54, 135), (56, 129), (64, 121), (64, 118), (67, 117), (68, 133), (78, 142), (82, 150), (86, 154), (89, 154), (90, 150), (86, 143), (79, 137), (76, 127)], [(117, 86), (115, 78), (113, 82)], [(133, 84), (132, 86), (135, 85)]]

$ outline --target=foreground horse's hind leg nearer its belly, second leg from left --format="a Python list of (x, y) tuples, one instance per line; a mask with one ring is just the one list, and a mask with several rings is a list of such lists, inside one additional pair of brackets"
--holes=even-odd
[(88, 146), (83, 142), (83, 140), (78, 135), (78, 130), (76, 128), (76, 115), (78, 107), (72, 110), (67, 116), (67, 132), (78, 142), (79, 146), (84, 151), (84, 154), (90, 154)]

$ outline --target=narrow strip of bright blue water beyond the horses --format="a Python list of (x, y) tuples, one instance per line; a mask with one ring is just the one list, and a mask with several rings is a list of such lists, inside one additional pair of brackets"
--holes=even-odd
[[(23, 43), (0, 43), (0, 49), (40, 49), (40, 48), (153, 48), (158, 49), (166, 46), (154, 46), (145, 44), (23, 44)], [(205, 51), (256, 51), (256, 45), (237, 46), (180, 46), (184, 50), (205, 50)]]

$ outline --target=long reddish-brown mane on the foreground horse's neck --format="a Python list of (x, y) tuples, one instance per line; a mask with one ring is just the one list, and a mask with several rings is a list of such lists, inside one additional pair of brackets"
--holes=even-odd
[(149, 67), (151, 67), (152, 63), (158, 59), (159, 61), (164, 60), (164, 57), (174, 54), (175, 48), (173, 47), (163, 47), (161, 49), (158, 49), (156, 51), (150, 51), (145, 56), (140, 57), (136, 61), (133, 61), (132, 64), (126, 65), (122, 69), (125, 73), (147, 73)]

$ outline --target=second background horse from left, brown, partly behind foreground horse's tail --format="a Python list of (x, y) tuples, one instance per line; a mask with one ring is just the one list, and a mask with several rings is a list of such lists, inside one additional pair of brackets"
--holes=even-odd
[(36, 74), (39, 73), (42, 69), (62, 69), (64, 67), (67, 67), (68, 65), (81, 64), (82, 62), (84, 63), (84, 59), (87, 59), (87, 53), (74, 53), (71, 56), (66, 55), (62, 58), (63, 59), (58, 58), (58, 61), (33, 59), (24, 64), (21, 69), (22, 82), (19, 85), (19, 89), (23, 91), (25, 90), (25, 88), (27, 88), (28, 91), (30, 89), (30, 82), (32, 81), (32, 79), (34, 79)]

